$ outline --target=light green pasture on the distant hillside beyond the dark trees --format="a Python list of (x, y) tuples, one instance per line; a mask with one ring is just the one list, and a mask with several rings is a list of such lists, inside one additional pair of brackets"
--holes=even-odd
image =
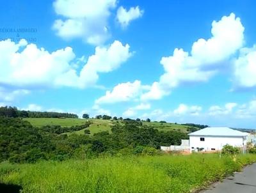
[[(73, 118), (24, 118), (24, 120), (29, 121), (35, 127), (42, 127), (44, 125), (61, 125), (62, 127), (70, 127), (72, 125), (82, 125), (85, 121), (84, 119), (73, 119)], [(108, 131), (111, 132), (111, 125), (113, 122), (110, 120), (97, 120), (90, 119), (92, 121), (92, 125), (90, 125), (91, 134), (95, 134), (97, 132)], [(174, 123), (159, 123), (159, 122), (143, 122), (143, 125), (151, 125), (158, 130), (168, 131), (168, 130), (179, 130), (181, 132), (187, 132), (188, 126), (179, 125)], [(84, 129), (75, 132), (77, 134), (84, 134)]]

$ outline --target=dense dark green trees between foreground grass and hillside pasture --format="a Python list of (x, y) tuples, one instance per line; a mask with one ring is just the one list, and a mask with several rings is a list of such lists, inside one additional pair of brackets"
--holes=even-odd
[[(154, 153), (160, 146), (180, 144), (188, 135), (177, 132), (161, 132), (141, 121), (116, 122), (109, 132), (90, 134), (90, 121), (73, 127), (33, 127), (19, 118), (0, 118), (0, 162), (36, 162), (36, 160), (65, 160), (72, 157), (91, 158), (116, 153)], [(84, 129), (85, 128), (85, 129)], [(84, 129), (82, 134), (72, 131)], [(63, 134), (71, 132), (68, 135)]]

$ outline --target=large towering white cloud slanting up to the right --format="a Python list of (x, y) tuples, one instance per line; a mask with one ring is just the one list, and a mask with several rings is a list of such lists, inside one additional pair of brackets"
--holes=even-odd
[(180, 84), (208, 81), (224, 67), (223, 61), (230, 60), (243, 46), (243, 32), (241, 20), (234, 13), (213, 21), (211, 38), (194, 42), (190, 54), (176, 48), (172, 56), (161, 59), (165, 73), (141, 98), (160, 99)]

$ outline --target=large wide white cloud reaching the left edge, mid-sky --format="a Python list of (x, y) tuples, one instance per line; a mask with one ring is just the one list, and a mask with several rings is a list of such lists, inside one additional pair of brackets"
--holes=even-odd
[(49, 52), (25, 40), (5, 40), (0, 42), (0, 86), (86, 88), (96, 84), (99, 73), (119, 68), (130, 56), (129, 45), (115, 41), (108, 47), (96, 47), (95, 54), (77, 72), (71, 47)]

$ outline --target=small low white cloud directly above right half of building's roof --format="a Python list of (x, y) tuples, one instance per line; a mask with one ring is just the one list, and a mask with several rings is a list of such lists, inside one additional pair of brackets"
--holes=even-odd
[(218, 116), (223, 114), (230, 114), (236, 106), (237, 104), (234, 102), (227, 103), (224, 107), (220, 107), (219, 105), (212, 105), (209, 108), (209, 115)]

